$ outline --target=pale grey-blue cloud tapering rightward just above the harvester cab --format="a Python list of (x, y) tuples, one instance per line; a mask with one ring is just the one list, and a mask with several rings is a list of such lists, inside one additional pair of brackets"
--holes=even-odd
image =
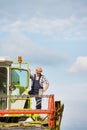
[(66, 61), (65, 56), (58, 55), (52, 49), (44, 45), (33, 43), (32, 40), (20, 32), (8, 33), (4, 40), (0, 40), (1, 55), (17, 57), (22, 55), (31, 63), (43, 65), (59, 65)]

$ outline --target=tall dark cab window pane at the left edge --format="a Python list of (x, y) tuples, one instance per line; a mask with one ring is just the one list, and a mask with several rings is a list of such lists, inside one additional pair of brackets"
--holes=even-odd
[(0, 67), (0, 109), (7, 107), (7, 69)]

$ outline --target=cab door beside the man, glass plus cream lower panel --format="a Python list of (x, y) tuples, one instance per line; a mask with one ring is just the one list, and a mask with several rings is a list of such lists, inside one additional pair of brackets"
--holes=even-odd
[[(11, 70), (11, 88), (10, 94), (13, 98), (10, 99), (10, 108), (23, 108), (25, 100), (20, 99), (20, 96), (24, 94), (26, 89), (28, 88), (28, 71), (23, 69), (12, 69)], [(18, 96), (16, 98), (14, 96)]]

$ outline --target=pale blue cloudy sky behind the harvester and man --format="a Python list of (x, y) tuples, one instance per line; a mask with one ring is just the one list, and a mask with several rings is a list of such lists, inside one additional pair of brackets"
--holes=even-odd
[(87, 0), (0, 0), (0, 56), (20, 55), (64, 104), (61, 130), (87, 130)]

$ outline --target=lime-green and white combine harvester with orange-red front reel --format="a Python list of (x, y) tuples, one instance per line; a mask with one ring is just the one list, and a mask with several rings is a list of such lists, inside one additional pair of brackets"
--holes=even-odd
[[(64, 104), (55, 101), (54, 94), (28, 95), (29, 65), (18, 56), (18, 62), (13, 62), (9, 57), (0, 57), (0, 128), (20, 126), (43, 127), (45, 130), (60, 130)], [(36, 110), (33, 108), (32, 99), (35, 96), (46, 98), (47, 108)], [(28, 108), (24, 108), (26, 100)], [(39, 118), (39, 114), (44, 114)], [(26, 119), (32, 119), (26, 123)]]

